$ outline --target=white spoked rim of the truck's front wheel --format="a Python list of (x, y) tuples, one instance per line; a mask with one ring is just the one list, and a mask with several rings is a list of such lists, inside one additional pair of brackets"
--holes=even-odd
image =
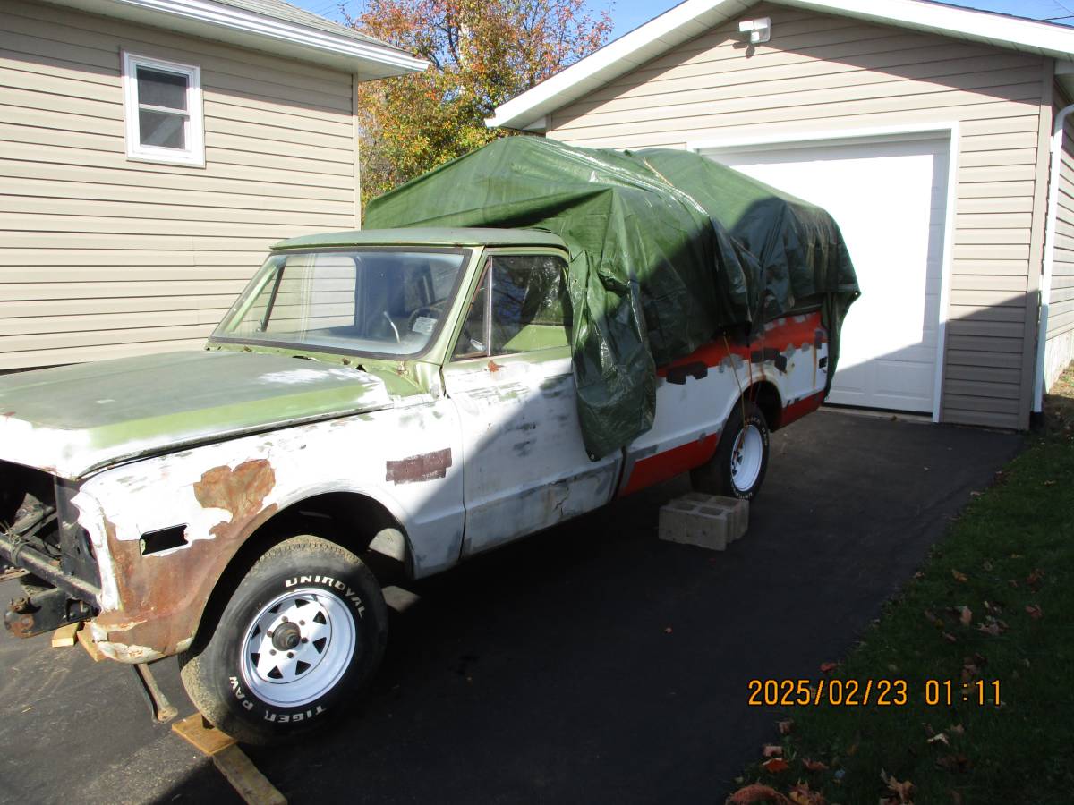
[(310, 587), (285, 592), (246, 630), (243, 678), (265, 703), (301, 707), (339, 683), (357, 638), (354, 618), (338, 596)]

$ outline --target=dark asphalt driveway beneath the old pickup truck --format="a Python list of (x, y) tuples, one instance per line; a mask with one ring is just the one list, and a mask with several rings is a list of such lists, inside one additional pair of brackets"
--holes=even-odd
[[(292, 803), (720, 802), (773, 735), (748, 682), (844, 654), (1020, 444), (822, 411), (773, 436), (727, 552), (656, 539), (678, 479), (409, 585), (364, 709), (248, 753)], [(129, 669), (8, 634), (0, 668), (0, 801), (235, 801)], [(155, 671), (193, 712), (174, 661)]]

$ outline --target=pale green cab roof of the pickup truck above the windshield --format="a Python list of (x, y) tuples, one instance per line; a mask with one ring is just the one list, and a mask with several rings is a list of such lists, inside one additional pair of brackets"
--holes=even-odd
[(391, 230), (351, 230), (280, 240), (272, 248), (308, 249), (333, 246), (555, 246), (566, 249), (563, 238), (543, 230), (478, 226), (412, 226)]

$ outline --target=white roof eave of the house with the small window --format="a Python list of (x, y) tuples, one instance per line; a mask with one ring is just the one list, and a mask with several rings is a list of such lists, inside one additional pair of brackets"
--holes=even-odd
[(271, 53), (353, 73), (387, 78), (425, 70), (429, 62), (405, 50), (297, 23), (275, 19), (213, 0), (48, 0), (58, 5), (166, 28), (200, 39)]

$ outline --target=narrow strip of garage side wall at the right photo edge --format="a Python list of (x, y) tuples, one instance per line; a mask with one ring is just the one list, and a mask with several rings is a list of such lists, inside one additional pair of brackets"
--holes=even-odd
[[(1056, 113), (1070, 101), (1056, 90)], [(1059, 207), (1044, 348), (1044, 387), (1050, 389), (1074, 361), (1074, 115), (1068, 115), (1059, 170)]]

